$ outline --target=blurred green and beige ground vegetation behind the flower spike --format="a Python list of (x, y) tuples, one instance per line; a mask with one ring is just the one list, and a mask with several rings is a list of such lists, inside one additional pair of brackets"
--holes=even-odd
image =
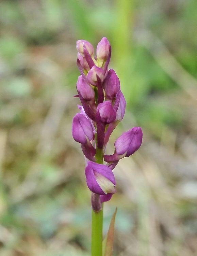
[(143, 144), (114, 169), (104, 233), (114, 256), (197, 253), (197, 1), (0, 2), (0, 255), (88, 256), (90, 191), (80, 145), (76, 40), (112, 45), (127, 100), (122, 131)]

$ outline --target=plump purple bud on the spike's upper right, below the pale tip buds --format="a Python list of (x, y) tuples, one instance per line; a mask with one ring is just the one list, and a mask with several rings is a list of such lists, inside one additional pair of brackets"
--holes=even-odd
[(108, 75), (103, 82), (103, 89), (107, 99), (112, 100), (115, 98), (118, 90), (120, 89), (120, 81), (113, 69), (110, 69)]

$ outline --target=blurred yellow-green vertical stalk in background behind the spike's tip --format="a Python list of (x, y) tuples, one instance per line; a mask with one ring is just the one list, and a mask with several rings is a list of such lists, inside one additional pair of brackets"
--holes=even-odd
[[(112, 28), (112, 60), (114, 69), (121, 81), (121, 91), (127, 97), (128, 84), (131, 84), (132, 70), (132, 32), (133, 32), (134, 0), (116, 0), (114, 13), (116, 20)], [(132, 88), (131, 88), (132, 90)]]

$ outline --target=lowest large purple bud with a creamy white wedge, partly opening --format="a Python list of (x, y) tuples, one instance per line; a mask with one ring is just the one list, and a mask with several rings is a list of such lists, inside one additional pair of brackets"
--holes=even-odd
[(85, 168), (85, 176), (87, 186), (93, 193), (99, 195), (116, 193), (115, 177), (112, 170), (108, 166), (88, 161)]

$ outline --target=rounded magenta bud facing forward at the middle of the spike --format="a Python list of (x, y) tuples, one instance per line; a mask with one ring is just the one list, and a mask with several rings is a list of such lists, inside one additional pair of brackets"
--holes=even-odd
[(99, 103), (97, 111), (100, 115), (101, 122), (104, 124), (110, 124), (116, 119), (116, 111), (113, 108), (112, 103), (108, 100)]

